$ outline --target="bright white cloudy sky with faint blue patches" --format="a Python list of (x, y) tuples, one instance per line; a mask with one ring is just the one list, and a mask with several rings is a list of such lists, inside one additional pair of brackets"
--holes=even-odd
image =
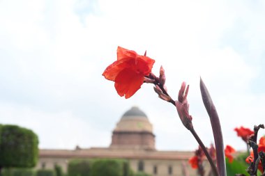
[(125, 99), (104, 79), (121, 46), (147, 51), (157, 76), (165, 68), (173, 99), (182, 81), (190, 85), (192, 123), (209, 146), (202, 77), (225, 145), (245, 150), (234, 128), (265, 116), (264, 8), (262, 0), (0, 0), (0, 123), (32, 129), (42, 149), (108, 147), (123, 113), (138, 106), (158, 150), (195, 150), (175, 107), (151, 84)]

